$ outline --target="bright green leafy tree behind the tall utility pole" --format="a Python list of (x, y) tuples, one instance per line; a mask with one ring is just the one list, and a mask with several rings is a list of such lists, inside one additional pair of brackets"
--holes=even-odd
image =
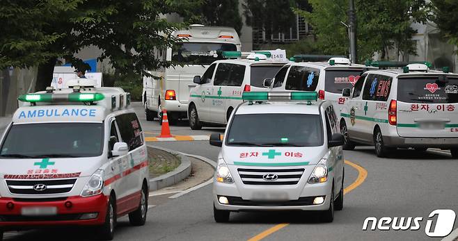
[[(317, 45), (325, 54), (347, 55), (348, 30), (341, 22), (348, 22), (347, 0), (309, 0), (313, 10), (296, 13), (313, 25)], [(414, 33), (412, 22), (425, 22), (427, 3), (425, 0), (356, 0), (359, 62), (372, 58), (372, 53), (381, 53), (388, 59), (388, 49), (397, 49), (397, 55), (416, 54), (411, 40)]]

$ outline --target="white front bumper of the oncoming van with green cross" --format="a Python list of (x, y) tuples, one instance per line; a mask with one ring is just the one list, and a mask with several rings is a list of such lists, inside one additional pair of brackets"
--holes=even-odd
[[(240, 190), (239, 190), (240, 189)], [(218, 210), (230, 211), (253, 211), (253, 210), (328, 210), (331, 199), (331, 181), (326, 183), (306, 184), (305, 188), (301, 185), (278, 185), (274, 188), (269, 185), (240, 185), (218, 183), (213, 184), (214, 206)], [(255, 193), (281, 193), (287, 199), (283, 201), (257, 201), (249, 194)], [(299, 194), (299, 195), (298, 195)], [(219, 203), (219, 197), (228, 197), (229, 204)], [(247, 197), (248, 196), (248, 197)], [(313, 204), (315, 197), (324, 197), (321, 204)]]

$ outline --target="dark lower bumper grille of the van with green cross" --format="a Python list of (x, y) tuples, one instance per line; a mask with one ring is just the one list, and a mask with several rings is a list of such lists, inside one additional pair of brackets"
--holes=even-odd
[[(225, 196), (226, 197), (226, 196)], [(244, 200), (241, 197), (227, 197), (229, 205), (235, 206), (308, 206), (313, 205), (315, 197), (299, 197), (297, 200), (288, 201), (253, 201)]]

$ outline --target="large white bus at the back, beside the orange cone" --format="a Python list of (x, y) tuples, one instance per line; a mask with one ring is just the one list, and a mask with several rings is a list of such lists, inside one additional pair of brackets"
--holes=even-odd
[[(175, 31), (172, 35), (184, 41), (166, 51), (157, 51), (157, 58), (181, 63), (143, 77), (143, 106), (147, 120), (159, 117), (167, 110), (168, 122), (187, 118), (189, 90), (196, 86), (193, 78), (202, 75), (214, 60), (223, 59), (221, 51), (240, 51), (239, 35), (234, 28), (203, 26), (194, 24), (187, 30)], [(159, 114), (159, 115), (158, 115)]]

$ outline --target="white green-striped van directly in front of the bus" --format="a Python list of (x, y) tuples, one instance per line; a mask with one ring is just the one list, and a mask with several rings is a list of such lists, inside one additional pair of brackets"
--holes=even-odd
[(286, 52), (223, 51), (224, 58), (194, 76), (197, 84), (189, 94), (188, 118), (193, 130), (205, 124), (227, 124), (235, 107), (242, 103), (242, 92), (265, 91), (264, 79), (271, 79), (289, 61)]

